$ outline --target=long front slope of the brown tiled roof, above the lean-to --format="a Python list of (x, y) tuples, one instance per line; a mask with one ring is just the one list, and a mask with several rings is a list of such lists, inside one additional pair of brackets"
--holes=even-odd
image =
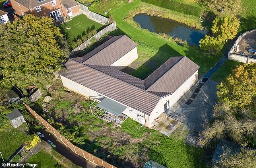
[(59, 74), (109, 98), (150, 115), (160, 96), (69, 59)]

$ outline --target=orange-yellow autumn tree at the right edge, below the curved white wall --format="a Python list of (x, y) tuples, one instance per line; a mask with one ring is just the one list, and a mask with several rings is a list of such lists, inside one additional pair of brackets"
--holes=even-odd
[(252, 107), (256, 101), (256, 63), (238, 66), (217, 89), (219, 102), (233, 108)]

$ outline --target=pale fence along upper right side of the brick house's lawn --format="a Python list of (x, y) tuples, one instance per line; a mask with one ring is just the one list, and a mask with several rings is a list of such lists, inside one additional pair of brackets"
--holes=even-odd
[(97, 20), (98, 22), (103, 23), (103, 24), (108, 24), (110, 22), (109, 18), (101, 16), (100, 14), (97, 14), (95, 12), (92, 12), (88, 9), (87, 6), (85, 6), (79, 2), (77, 2), (77, 3), (78, 3), (78, 8), (81, 9), (91, 19)]

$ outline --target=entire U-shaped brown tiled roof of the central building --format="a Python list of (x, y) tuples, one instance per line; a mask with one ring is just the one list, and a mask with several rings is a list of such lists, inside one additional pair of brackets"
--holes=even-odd
[(171, 57), (145, 80), (109, 66), (134, 47), (126, 35), (113, 37), (87, 55), (69, 59), (67, 70), (59, 74), (150, 115), (159, 99), (175, 92), (199, 66), (187, 57)]

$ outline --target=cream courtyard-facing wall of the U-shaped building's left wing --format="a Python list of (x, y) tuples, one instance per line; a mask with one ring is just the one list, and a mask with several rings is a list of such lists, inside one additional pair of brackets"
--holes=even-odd
[(138, 53), (137, 53), (137, 47), (126, 53), (124, 56), (122, 56), (120, 59), (116, 60), (113, 64), (110, 66), (117, 69), (117, 70), (122, 70), (126, 66), (132, 64), (135, 59), (138, 58)]

